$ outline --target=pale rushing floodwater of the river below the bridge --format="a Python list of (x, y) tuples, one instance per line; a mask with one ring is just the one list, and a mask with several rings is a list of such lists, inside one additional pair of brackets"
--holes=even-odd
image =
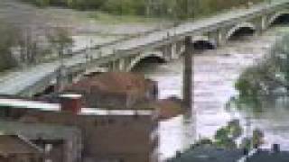
[[(249, 111), (228, 111), (228, 101), (232, 96), (238, 94), (234, 84), (238, 76), (246, 67), (253, 65), (265, 57), (266, 51), (275, 42), (277, 31), (274, 29), (266, 31), (263, 36), (248, 37), (245, 40), (228, 42), (226, 47), (216, 50), (206, 50), (201, 54), (194, 55), (194, 110), (196, 118), (194, 128), (195, 136), (200, 138), (211, 138), (216, 130), (232, 119), (240, 118), (245, 125), (247, 116), (251, 116), (252, 127), (265, 130), (267, 143), (273, 141), (286, 142), (289, 145), (289, 100), (275, 100), (272, 104), (266, 104), (264, 111), (257, 116), (251, 115)], [(282, 28), (282, 30), (284, 30)], [(182, 60), (175, 60), (162, 65), (145, 66), (140, 69), (145, 76), (159, 83), (160, 98), (171, 95), (182, 97)], [(227, 108), (226, 108), (227, 107)], [(271, 107), (273, 107), (271, 109)], [(279, 109), (279, 107), (282, 107)], [(178, 117), (168, 121), (167, 127), (160, 128), (160, 157), (172, 157), (176, 150), (182, 149), (184, 143), (180, 129), (182, 122)], [(190, 137), (191, 138), (191, 137)], [(194, 139), (188, 139), (188, 141)]]

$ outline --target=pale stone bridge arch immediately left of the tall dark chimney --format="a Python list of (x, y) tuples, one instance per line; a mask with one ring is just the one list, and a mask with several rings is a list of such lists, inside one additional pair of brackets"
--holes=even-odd
[(148, 52), (143, 52), (139, 55), (137, 55), (135, 58), (132, 58), (129, 61), (128, 66), (126, 67), (126, 71), (132, 71), (134, 69), (134, 67), (136, 67), (137, 65), (139, 65), (142, 60), (146, 59), (146, 58), (154, 58), (157, 61), (161, 61), (161, 62), (167, 62), (169, 61), (168, 58), (166, 58), (163, 55), (162, 51), (148, 51)]

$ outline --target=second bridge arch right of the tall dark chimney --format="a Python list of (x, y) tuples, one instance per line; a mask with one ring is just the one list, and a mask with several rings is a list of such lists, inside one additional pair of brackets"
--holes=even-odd
[[(244, 34), (252, 34), (256, 31), (256, 25), (253, 23), (239, 23), (233, 28), (228, 30), (226, 34), (226, 40), (232, 40), (234, 36), (237, 36), (238, 32), (244, 32)], [(241, 35), (240, 35), (241, 36)]]

